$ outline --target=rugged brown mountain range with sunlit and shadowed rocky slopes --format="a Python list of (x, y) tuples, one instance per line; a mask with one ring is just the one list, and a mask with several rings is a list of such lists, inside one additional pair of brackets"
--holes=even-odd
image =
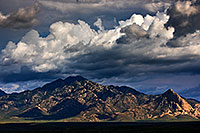
[(172, 89), (146, 95), (126, 86), (105, 86), (81, 76), (0, 96), (0, 120), (134, 121), (199, 119), (200, 102)]

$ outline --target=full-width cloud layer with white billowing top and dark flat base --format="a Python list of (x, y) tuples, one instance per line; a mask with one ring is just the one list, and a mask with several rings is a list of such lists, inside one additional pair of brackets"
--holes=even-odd
[(165, 12), (133, 14), (110, 30), (98, 19), (98, 31), (81, 20), (56, 22), (47, 37), (32, 30), (17, 44), (9, 42), (1, 53), (0, 74), (6, 77), (26, 70), (27, 74), (81, 74), (97, 79), (198, 74), (200, 32), (179, 38), (175, 42), (179, 47), (169, 46), (175, 30), (165, 27), (169, 18)]

